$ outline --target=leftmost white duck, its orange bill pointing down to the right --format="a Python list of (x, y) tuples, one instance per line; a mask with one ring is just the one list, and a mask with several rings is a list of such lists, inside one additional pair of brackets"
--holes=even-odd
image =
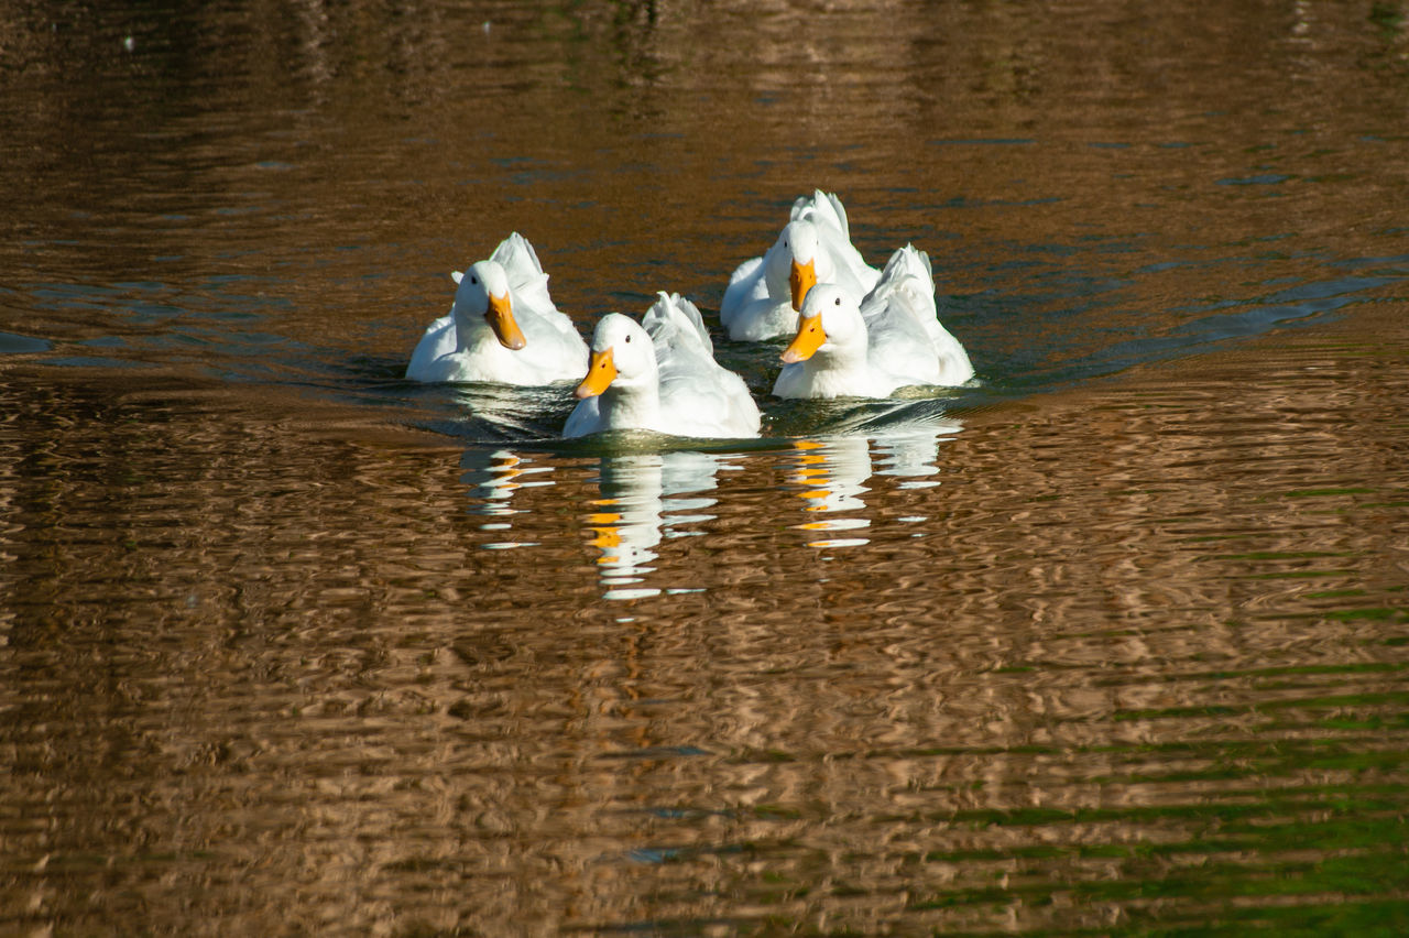
[(551, 384), (582, 376), (588, 345), (548, 297), (548, 275), (523, 235), (451, 277), (455, 303), (427, 327), (406, 376), (417, 382)]

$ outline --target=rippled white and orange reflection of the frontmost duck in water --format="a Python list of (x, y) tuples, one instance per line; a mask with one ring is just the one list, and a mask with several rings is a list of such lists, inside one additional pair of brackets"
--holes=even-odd
[[(662, 590), (641, 586), (655, 572), (655, 548), (662, 537), (688, 537), (702, 531), (683, 525), (713, 520), (703, 514), (714, 506), (716, 473), (726, 458), (704, 452), (648, 452), (603, 456), (600, 499), (588, 515), (589, 544), (602, 554), (604, 599), (657, 596)], [(695, 497), (681, 497), (695, 494)], [(668, 589), (665, 592), (683, 592)]]

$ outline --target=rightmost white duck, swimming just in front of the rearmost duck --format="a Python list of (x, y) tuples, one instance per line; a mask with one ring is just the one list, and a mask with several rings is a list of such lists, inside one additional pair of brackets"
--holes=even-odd
[(930, 259), (910, 245), (890, 255), (859, 306), (845, 289), (814, 286), (782, 359), (778, 397), (889, 397), (974, 376), (968, 352), (940, 325)]

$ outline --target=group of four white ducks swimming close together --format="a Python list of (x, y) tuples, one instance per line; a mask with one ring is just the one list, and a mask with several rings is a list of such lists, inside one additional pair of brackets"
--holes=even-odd
[[(564, 437), (758, 435), (758, 404), (714, 361), (699, 308), (681, 294), (661, 292), (641, 323), (603, 315), (589, 348), (554, 307), (548, 275), (517, 232), (488, 261), (451, 276), (455, 301), (416, 345), (407, 377), (576, 380), (579, 401)], [(792, 337), (774, 383), (778, 397), (888, 397), (974, 376), (964, 346), (940, 324), (929, 256), (906, 245), (883, 269), (868, 266), (851, 245), (841, 201), (820, 190), (793, 203), (772, 248), (734, 270), (719, 317), (734, 341)]]

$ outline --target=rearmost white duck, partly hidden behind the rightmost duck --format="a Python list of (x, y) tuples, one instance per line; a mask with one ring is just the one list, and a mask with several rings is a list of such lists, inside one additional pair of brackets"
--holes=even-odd
[(792, 335), (813, 283), (836, 283), (859, 303), (879, 276), (851, 246), (841, 200), (819, 189), (793, 203), (788, 224), (764, 256), (738, 265), (719, 318), (735, 341)]

